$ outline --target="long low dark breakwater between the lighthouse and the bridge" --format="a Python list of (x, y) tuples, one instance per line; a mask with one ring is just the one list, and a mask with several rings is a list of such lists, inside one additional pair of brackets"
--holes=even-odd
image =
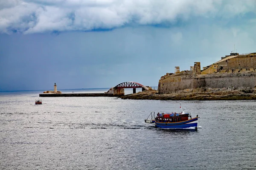
[(121, 95), (105, 93), (39, 94), (39, 97), (118, 97)]

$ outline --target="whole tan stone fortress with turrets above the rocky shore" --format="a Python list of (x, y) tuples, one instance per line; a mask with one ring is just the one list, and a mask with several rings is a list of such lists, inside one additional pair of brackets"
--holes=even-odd
[(197, 88), (256, 88), (256, 53), (231, 53), (201, 70), (195, 62), (190, 70), (167, 73), (158, 83), (160, 94), (179, 93)]

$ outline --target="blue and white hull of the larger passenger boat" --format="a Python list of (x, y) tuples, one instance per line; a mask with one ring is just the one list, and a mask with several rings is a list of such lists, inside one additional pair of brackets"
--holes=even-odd
[(155, 126), (158, 128), (166, 128), (166, 129), (185, 129), (185, 128), (197, 128), (198, 125), (198, 117), (193, 119), (189, 119), (182, 122), (155, 122)]

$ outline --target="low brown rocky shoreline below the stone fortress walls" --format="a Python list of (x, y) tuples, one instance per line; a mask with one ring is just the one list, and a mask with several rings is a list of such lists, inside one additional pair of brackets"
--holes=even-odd
[(190, 91), (172, 94), (158, 94), (158, 91), (142, 91), (136, 94), (120, 96), (121, 99), (150, 100), (255, 100), (256, 93), (243, 91)]

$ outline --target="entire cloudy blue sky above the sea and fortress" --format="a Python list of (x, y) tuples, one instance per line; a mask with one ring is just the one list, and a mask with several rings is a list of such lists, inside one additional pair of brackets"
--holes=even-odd
[(256, 0), (0, 0), (0, 91), (157, 86), (256, 52)]

